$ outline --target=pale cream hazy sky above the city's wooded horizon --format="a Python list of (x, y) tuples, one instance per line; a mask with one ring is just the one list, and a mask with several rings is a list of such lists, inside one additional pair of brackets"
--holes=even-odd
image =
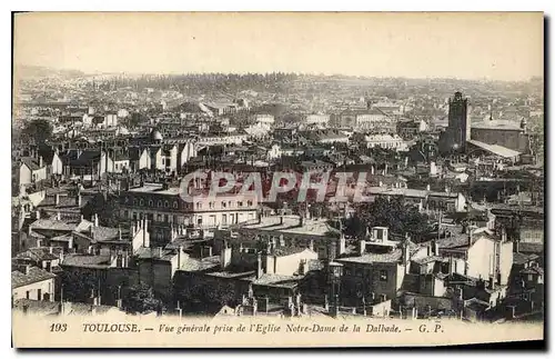
[(14, 61), (85, 72), (543, 76), (542, 13), (26, 13)]

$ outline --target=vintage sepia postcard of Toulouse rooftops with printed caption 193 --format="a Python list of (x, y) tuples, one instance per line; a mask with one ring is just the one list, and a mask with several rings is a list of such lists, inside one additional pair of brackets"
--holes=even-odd
[(17, 348), (544, 339), (542, 12), (13, 16)]

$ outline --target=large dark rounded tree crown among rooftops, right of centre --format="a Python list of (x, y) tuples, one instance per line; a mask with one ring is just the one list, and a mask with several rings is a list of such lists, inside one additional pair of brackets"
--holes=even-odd
[(362, 237), (370, 227), (389, 227), (397, 235), (408, 233), (413, 239), (427, 235), (432, 228), (427, 216), (413, 206), (404, 206), (402, 198), (377, 197), (374, 202), (360, 203), (356, 215), (345, 221), (345, 233)]

